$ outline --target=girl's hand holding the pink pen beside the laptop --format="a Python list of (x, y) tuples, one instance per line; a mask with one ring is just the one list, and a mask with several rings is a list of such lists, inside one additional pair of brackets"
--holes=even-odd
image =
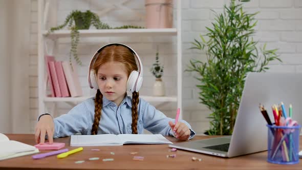
[(172, 121), (169, 121), (169, 125), (177, 139), (187, 140), (190, 137), (191, 131), (185, 123), (177, 122), (174, 124)]

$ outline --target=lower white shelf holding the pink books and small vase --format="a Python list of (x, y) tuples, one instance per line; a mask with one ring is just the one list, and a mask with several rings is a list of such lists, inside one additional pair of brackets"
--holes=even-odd
[[(86, 96), (86, 97), (46, 97), (44, 99), (45, 102), (81, 102), (85, 99), (88, 99), (93, 96)], [(148, 102), (177, 102), (176, 96), (163, 96), (163, 97), (156, 97), (156, 96), (140, 96), (144, 100)]]

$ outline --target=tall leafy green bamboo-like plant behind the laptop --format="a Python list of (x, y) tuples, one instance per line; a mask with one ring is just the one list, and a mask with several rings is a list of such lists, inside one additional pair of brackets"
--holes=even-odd
[(266, 71), (270, 61), (281, 61), (276, 49), (256, 47), (252, 37), (256, 14), (245, 12), (242, 4), (231, 0), (223, 13), (216, 13), (212, 28), (206, 27), (208, 40), (200, 35), (201, 41), (192, 42), (191, 49), (205, 51), (207, 58), (206, 62), (190, 60), (186, 70), (198, 73), (199, 98), (212, 112), (205, 134), (231, 135), (247, 73)]

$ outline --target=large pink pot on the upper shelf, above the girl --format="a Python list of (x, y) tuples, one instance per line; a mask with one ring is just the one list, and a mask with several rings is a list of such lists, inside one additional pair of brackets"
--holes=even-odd
[(172, 28), (172, 0), (146, 0), (147, 28)]

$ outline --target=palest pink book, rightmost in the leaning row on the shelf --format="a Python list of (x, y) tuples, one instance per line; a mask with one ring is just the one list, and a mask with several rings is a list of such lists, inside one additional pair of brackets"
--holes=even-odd
[(71, 97), (82, 96), (82, 88), (80, 86), (77, 68), (75, 64), (73, 64), (72, 66), (73, 69), (68, 61), (62, 61), (62, 67)]

